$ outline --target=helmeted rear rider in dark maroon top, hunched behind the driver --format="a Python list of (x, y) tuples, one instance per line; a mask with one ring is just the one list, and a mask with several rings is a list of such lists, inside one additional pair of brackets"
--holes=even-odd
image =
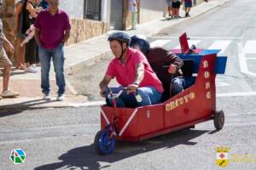
[[(131, 48), (137, 48), (145, 54), (152, 69), (163, 83), (165, 89), (163, 100), (169, 99), (183, 91), (185, 80), (182, 77), (181, 71), (183, 66), (182, 59), (164, 48), (150, 48), (147, 38), (142, 35), (131, 37), (130, 46)], [(168, 69), (166, 69), (165, 65), (167, 65)]]

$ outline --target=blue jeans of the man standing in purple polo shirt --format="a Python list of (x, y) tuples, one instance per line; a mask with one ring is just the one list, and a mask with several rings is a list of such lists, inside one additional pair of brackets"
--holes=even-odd
[(63, 45), (59, 44), (56, 48), (38, 48), (39, 59), (41, 62), (41, 88), (44, 94), (49, 94), (49, 68), (50, 60), (53, 59), (55, 67), (56, 84), (59, 87), (58, 95), (65, 93), (66, 82), (64, 77), (64, 50)]

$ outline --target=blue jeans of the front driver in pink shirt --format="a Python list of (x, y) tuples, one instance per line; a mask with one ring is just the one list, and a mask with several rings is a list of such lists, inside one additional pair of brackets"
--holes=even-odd
[[(118, 94), (118, 92), (124, 87), (119, 88), (110, 88), (113, 94)], [(113, 106), (113, 100), (108, 97), (109, 92), (105, 95), (106, 101), (108, 105)], [(139, 95), (141, 98), (141, 101), (137, 99), (137, 95)], [(143, 105), (154, 105), (158, 104), (160, 102), (162, 93), (158, 92), (153, 87), (142, 87), (137, 88), (136, 94), (127, 94), (126, 91), (124, 91), (119, 98), (116, 100), (117, 107), (137, 107), (137, 106), (143, 106)]]

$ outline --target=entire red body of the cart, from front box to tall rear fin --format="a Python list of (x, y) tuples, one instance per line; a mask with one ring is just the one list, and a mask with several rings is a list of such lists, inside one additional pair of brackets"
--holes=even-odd
[(217, 54), (203, 55), (195, 84), (160, 105), (136, 109), (102, 106), (102, 129), (113, 122), (113, 116), (118, 117), (116, 138), (137, 141), (212, 119), (216, 107), (216, 58)]

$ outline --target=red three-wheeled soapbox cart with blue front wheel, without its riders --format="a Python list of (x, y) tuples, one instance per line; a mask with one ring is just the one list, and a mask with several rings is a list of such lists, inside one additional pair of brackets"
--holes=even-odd
[[(118, 108), (101, 106), (101, 129), (94, 140), (96, 152), (110, 154), (115, 139), (140, 141), (170, 133), (213, 119), (214, 127), (224, 126), (224, 112), (216, 111), (216, 74), (224, 74), (227, 57), (217, 56), (218, 49), (189, 48), (186, 33), (179, 37), (181, 49), (172, 53), (183, 59), (183, 77), (189, 87), (157, 105)], [(169, 77), (166, 77), (169, 78)]]

